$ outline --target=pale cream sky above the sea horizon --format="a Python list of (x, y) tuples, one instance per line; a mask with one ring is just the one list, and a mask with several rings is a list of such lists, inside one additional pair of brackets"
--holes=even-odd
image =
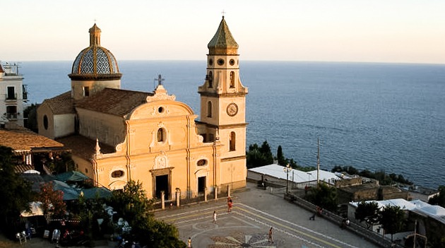
[(242, 60), (445, 64), (444, 0), (0, 0), (1, 61), (205, 60), (225, 11)]

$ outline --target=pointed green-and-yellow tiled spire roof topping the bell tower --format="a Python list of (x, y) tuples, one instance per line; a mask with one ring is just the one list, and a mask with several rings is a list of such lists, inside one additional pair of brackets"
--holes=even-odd
[(225, 54), (225, 52), (228, 52), (227, 50), (237, 51), (238, 44), (233, 38), (232, 33), (230, 33), (224, 16), (212, 40), (208, 42), (207, 47), (210, 54)]

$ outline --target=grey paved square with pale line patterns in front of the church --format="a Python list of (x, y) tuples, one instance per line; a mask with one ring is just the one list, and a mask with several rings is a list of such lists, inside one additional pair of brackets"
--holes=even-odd
[[(191, 237), (193, 247), (336, 247), (374, 248), (376, 245), (357, 237), (323, 218), (309, 220), (312, 213), (275, 194), (248, 184), (247, 191), (232, 194), (234, 206), (227, 213), (227, 201), (219, 199), (155, 213), (156, 218), (173, 223), (179, 237)], [(213, 211), (217, 221), (213, 223)], [(273, 228), (273, 242), (268, 231)]]

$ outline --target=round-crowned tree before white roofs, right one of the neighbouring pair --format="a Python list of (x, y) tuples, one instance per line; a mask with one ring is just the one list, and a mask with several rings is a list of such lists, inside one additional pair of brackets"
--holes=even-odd
[(393, 241), (393, 234), (403, 230), (405, 220), (405, 213), (400, 206), (386, 205), (380, 211), (379, 223), (384, 228), (385, 233), (391, 234), (391, 242)]

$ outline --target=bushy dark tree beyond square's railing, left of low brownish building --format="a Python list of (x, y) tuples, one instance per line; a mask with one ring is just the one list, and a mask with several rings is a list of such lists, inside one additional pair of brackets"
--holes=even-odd
[(326, 208), (328, 211), (337, 211), (337, 189), (335, 187), (329, 187), (324, 182), (321, 182), (319, 187), (313, 187), (305, 198), (307, 201), (321, 208)]

